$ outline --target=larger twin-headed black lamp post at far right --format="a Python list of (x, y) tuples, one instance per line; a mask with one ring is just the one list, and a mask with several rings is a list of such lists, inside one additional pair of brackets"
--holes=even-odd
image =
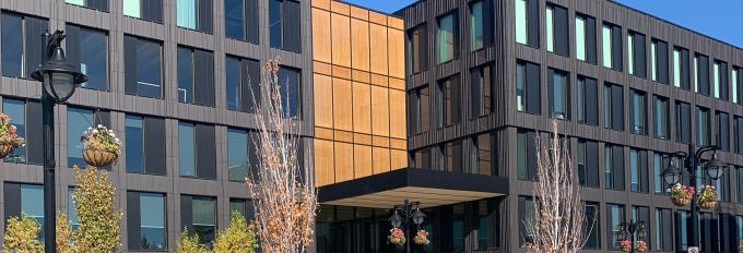
[[(697, 186), (697, 167), (699, 166), (699, 160), (701, 159), (701, 155), (705, 153), (712, 152), (712, 159), (705, 162), (703, 170), (707, 172), (707, 176), (712, 179), (717, 180), (722, 176), (722, 168), (727, 166), (726, 162), (722, 162), (717, 159), (717, 149), (720, 149), (719, 147), (712, 145), (712, 146), (703, 146), (699, 147), (698, 149), (695, 149), (694, 144), (688, 144), (688, 153), (686, 152), (676, 152), (671, 154), (672, 157), (679, 157), (683, 159), (684, 166), (686, 167), (686, 171), (684, 171), (682, 168), (679, 168), (674, 165), (674, 162), (671, 162), (671, 166), (663, 171), (663, 181), (665, 183), (673, 185), (676, 184), (681, 181), (682, 177), (684, 174), (688, 174), (689, 178), (689, 183), (694, 186), (694, 189), (699, 189)], [(698, 190), (697, 190), (698, 191)], [(688, 246), (699, 246), (699, 207), (697, 206), (697, 198), (698, 198), (698, 193), (695, 193), (694, 196), (692, 197), (692, 240), (688, 242)]]

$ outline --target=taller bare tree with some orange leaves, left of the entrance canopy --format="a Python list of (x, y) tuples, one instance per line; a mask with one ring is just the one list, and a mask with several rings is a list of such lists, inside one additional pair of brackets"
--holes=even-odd
[[(256, 208), (256, 232), (263, 252), (304, 252), (312, 243), (318, 206), (314, 170), (299, 156), (300, 123), (286, 117), (286, 107), (295, 105), (282, 94), (287, 88), (280, 85), (278, 58), (266, 63), (262, 80), (261, 96), (253, 95), (258, 169), (246, 178)], [(264, 106), (256, 101), (261, 99)]]

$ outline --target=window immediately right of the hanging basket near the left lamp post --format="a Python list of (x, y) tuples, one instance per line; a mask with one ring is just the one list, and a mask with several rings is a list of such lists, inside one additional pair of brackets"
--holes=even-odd
[(127, 172), (144, 172), (144, 129), (142, 117), (127, 115), (125, 117)]

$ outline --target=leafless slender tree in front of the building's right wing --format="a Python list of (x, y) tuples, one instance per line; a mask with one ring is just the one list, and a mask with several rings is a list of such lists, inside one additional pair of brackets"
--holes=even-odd
[(526, 248), (533, 253), (578, 252), (586, 244), (594, 220), (585, 217), (569, 145), (561, 140), (556, 122), (546, 142), (542, 137), (535, 142), (534, 216), (523, 220), (530, 241)]

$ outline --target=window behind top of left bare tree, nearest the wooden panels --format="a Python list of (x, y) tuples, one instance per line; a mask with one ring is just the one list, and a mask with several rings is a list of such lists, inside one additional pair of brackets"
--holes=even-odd
[(299, 70), (281, 67), (279, 70), (279, 83), (281, 85), (281, 103), (283, 104), (284, 117), (298, 119), (302, 111), (302, 80)]

